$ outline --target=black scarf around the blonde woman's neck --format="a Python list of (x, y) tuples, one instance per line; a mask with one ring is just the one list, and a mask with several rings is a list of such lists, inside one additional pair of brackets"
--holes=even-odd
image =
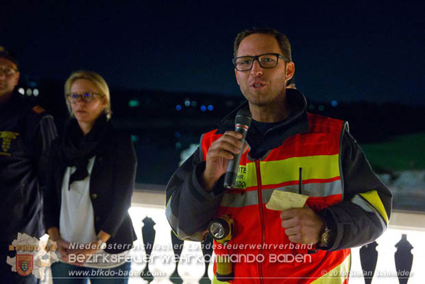
[(110, 122), (106, 115), (100, 115), (93, 128), (83, 134), (77, 119), (71, 118), (66, 123), (59, 152), (60, 159), (67, 167), (75, 166), (77, 170), (69, 177), (68, 190), (75, 180), (84, 180), (88, 176), (88, 160), (93, 158), (106, 143), (106, 133), (110, 130)]

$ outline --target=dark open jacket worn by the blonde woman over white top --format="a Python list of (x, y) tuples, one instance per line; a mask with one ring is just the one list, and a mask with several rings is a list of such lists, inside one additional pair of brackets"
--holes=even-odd
[[(109, 141), (99, 149), (90, 175), (90, 198), (96, 233), (104, 230), (111, 235), (105, 251), (119, 253), (136, 240), (127, 211), (131, 205), (137, 162), (130, 134), (111, 129), (106, 137)], [(51, 175), (44, 192), (46, 229), (59, 228), (62, 180), (66, 169), (60, 160), (59, 149), (60, 139), (56, 139), (49, 152)]]

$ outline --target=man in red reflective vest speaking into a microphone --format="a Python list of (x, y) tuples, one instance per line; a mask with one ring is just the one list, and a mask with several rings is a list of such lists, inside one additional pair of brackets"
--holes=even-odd
[[(171, 227), (181, 239), (202, 241), (208, 228), (218, 234), (215, 281), (347, 283), (350, 248), (385, 231), (391, 193), (348, 123), (307, 113), (304, 95), (285, 87), (295, 72), (287, 36), (245, 30), (234, 40), (233, 62), (247, 99), (239, 109), (252, 114), (245, 147), (233, 131), (236, 109), (171, 177)], [(236, 187), (228, 189), (223, 179), (239, 152)], [(290, 209), (269, 209), (274, 193), (289, 194), (280, 202)]]

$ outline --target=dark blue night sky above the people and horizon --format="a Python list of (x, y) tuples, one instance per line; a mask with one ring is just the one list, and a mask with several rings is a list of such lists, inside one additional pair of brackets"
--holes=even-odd
[(269, 26), (289, 36), (308, 99), (425, 105), (419, 1), (68, 2), (0, 4), (0, 45), (16, 51), (21, 73), (64, 81), (91, 69), (112, 88), (239, 95), (233, 39)]

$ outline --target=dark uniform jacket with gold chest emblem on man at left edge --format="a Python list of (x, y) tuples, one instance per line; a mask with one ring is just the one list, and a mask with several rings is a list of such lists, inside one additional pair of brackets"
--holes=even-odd
[(53, 117), (21, 94), (0, 106), (0, 244), (18, 233), (44, 234), (41, 188), (47, 152), (57, 136)]

